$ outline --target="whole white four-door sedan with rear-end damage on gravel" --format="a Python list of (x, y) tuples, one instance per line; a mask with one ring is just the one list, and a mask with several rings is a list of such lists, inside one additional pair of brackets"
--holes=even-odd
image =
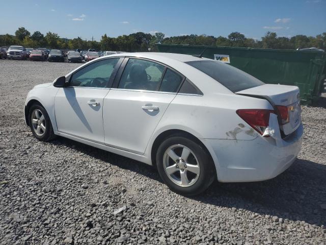
[(97, 58), (35, 86), (24, 113), (37, 139), (59, 135), (154, 165), (184, 195), (214, 179), (274, 178), (303, 138), (297, 87), (180, 54)]

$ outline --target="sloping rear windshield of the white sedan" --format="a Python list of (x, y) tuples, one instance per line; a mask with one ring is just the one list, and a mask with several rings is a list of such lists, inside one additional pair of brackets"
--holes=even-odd
[(185, 63), (204, 72), (234, 93), (264, 84), (248, 73), (220, 61), (201, 60)]

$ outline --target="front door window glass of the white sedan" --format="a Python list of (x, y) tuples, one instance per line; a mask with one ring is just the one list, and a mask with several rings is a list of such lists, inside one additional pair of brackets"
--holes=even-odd
[(106, 87), (115, 65), (118, 63), (119, 58), (105, 59), (94, 62), (72, 75), (70, 86), (73, 87)]

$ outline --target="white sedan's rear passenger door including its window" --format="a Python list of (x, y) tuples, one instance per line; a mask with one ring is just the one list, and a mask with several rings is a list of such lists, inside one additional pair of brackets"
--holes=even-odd
[(114, 88), (104, 98), (105, 144), (144, 154), (184, 77), (149, 60), (130, 58), (124, 63)]

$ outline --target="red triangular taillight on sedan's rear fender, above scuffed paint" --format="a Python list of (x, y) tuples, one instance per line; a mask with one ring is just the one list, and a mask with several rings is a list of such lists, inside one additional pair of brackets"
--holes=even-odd
[(263, 135), (265, 129), (268, 127), (269, 114), (275, 113), (273, 110), (264, 109), (239, 109), (236, 113), (253, 127), (258, 133)]

